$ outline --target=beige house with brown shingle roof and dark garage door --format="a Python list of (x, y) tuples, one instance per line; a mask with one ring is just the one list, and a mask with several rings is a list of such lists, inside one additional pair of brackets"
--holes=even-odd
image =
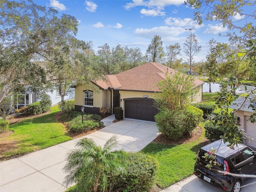
[[(154, 107), (154, 96), (160, 90), (156, 83), (165, 79), (165, 73), (176, 71), (156, 62), (148, 62), (130, 70), (106, 75), (105, 80), (92, 82), (96, 90), (77, 85), (75, 88), (75, 110), (83, 106), (85, 112), (99, 113), (100, 107), (122, 107), (123, 117), (154, 121), (158, 110)], [(195, 79), (194, 88), (199, 90), (195, 102), (202, 100), (203, 81)]]

